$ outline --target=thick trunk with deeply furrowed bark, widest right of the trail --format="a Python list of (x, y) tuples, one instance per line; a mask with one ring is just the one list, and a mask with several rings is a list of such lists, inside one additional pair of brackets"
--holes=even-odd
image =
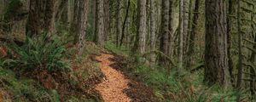
[(227, 14), (224, 0), (206, 0), (205, 82), (226, 87), (230, 83)]

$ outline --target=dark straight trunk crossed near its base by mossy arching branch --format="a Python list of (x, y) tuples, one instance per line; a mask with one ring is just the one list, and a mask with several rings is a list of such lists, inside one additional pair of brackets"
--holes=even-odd
[[(169, 47), (169, 6), (170, 0), (162, 0), (161, 7), (161, 26), (160, 26), (160, 51), (168, 55)], [(160, 56), (160, 64), (167, 67), (166, 57)]]

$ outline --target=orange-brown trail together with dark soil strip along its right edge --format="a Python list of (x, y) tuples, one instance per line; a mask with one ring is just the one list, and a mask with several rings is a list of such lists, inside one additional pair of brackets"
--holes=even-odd
[(102, 95), (104, 102), (143, 102), (154, 101), (154, 93), (148, 88), (132, 80), (119, 70), (119, 62), (116, 55), (101, 54), (96, 56), (100, 63), (100, 69), (104, 74), (103, 81), (96, 85), (96, 90)]

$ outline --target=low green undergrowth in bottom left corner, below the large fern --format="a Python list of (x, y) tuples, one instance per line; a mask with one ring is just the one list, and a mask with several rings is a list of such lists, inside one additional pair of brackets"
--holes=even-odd
[(4, 94), (5, 97), (3, 98), (3, 101), (47, 102), (59, 99), (59, 95), (55, 90), (47, 90), (39, 85), (38, 82), (26, 77), (17, 78), (14, 71), (0, 68), (0, 81), (1, 88), (8, 92), (8, 94)]

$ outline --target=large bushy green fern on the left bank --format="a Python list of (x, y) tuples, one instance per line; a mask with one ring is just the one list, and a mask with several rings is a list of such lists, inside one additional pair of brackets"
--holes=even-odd
[(9, 53), (11, 58), (7, 61), (8, 66), (22, 67), (22, 70), (39, 68), (48, 71), (61, 71), (68, 69), (70, 65), (63, 60), (67, 49), (60, 39), (53, 37), (49, 41), (46, 34), (43, 34), (40, 37), (27, 37), (22, 46), (11, 42), (9, 52), (14, 53)]

